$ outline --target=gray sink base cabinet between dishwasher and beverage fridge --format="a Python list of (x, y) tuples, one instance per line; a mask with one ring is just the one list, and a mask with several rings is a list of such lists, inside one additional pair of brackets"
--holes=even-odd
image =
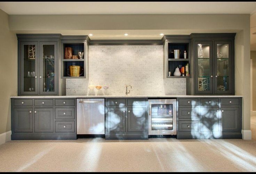
[(106, 101), (106, 139), (149, 138), (146, 98), (108, 98)]

